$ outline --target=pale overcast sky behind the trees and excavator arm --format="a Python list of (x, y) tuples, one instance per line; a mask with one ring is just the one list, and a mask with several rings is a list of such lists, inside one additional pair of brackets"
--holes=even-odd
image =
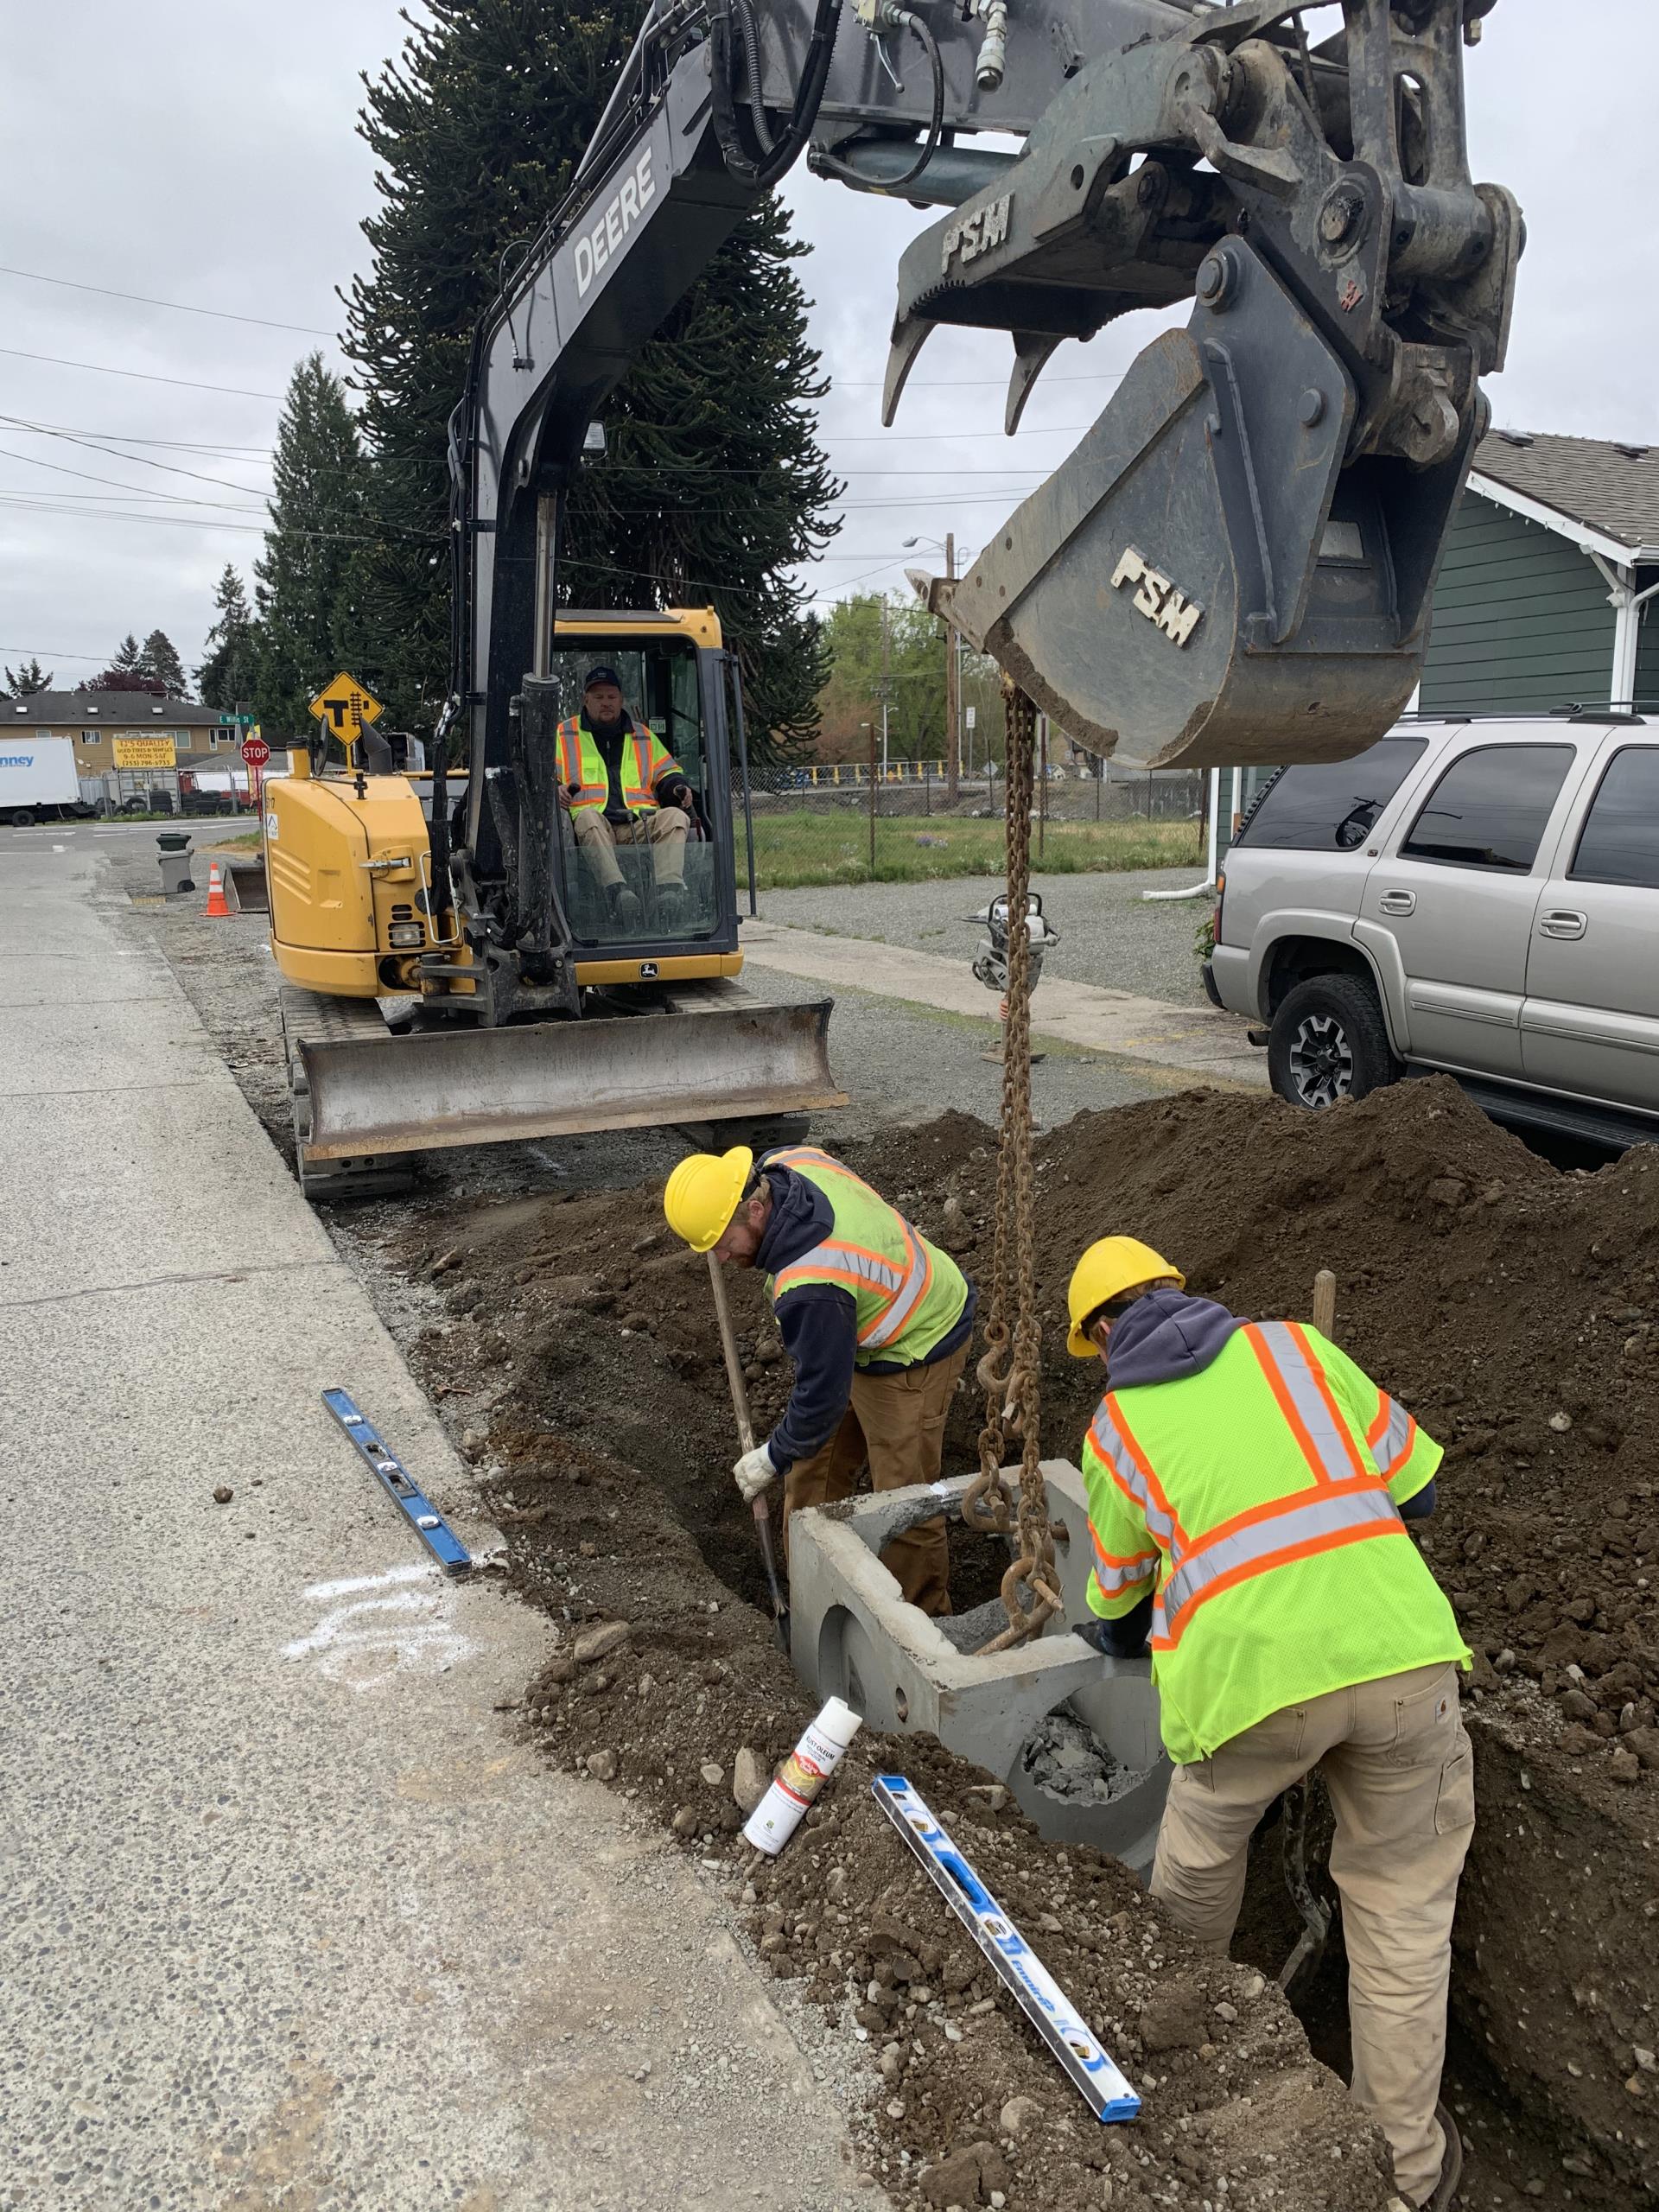
[[(1475, 175), (1520, 195), (1531, 239), (1509, 369), (1489, 389), (1500, 425), (1659, 442), (1659, 7), (1575, 15), (1568, 35), (1544, 0), (1502, 0), (1469, 58)], [(250, 575), (259, 551), (288, 374), (312, 345), (341, 365), (334, 288), (363, 265), (374, 206), (358, 73), (396, 49), (396, 0), (11, 0), (4, 24), (0, 657), (40, 655), (64, 684), (159, 626), (192, 666), (219, 571)], [(978, 546), (1155, 325), (1062, 347), (1015, 440), (1000, 431), (1006, 341), (940, 332), (883, 431), (894, 265), (933, 217), (805, 168), (787, 195), (814, 246), (803, 281), (834, 383), (823, 436), (847, 480), (845, 526), (812, 575), (836, 597), (898, 584), (918, 560), (907, 535), (953, 529)]]

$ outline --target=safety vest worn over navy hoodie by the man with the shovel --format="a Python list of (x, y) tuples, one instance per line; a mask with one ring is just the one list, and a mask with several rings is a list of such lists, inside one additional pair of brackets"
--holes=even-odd
[(858, 1310), (854, 1365), (883, 1360), (914, 1367), (925, 1360), (951, 1334), (967, 1305), (967, 1281), (951, 1254), (931, 1245), (852, 1168), (816, 1146), (785, 1146), (768, 1152), (763, 1166), (790, 1168), (803, 1177), (830, 1199), (834, 1214), (823, 1243), (768, 1276), (772, 1303), (803, 1283), (834, 1283), (836, 1290), (852, 1292)]

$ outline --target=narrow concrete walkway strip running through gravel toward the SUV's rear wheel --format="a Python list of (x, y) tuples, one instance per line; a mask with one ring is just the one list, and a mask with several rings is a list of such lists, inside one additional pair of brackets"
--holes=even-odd
[[(781, 969), (807, 982), (907, 998), (940, 1013), (973, 1015), (987, 1031), (995, 1029), (998, 1002), (975, 982), (967, 960), (748, 918), (743, 953), (757, 967)], [(1048, 975), (1031, 995), (1031, 1037), (1144, 1062), (1166, 1075), (1223, 1091), (1267, 1088), (1267, 1055), (1245, 1042), (1241, 1020), (1212, 1006), (1175, 1006), (1133, 991)]]

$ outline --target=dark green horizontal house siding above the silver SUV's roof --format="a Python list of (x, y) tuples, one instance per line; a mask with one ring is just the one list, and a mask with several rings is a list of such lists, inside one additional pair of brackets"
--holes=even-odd
[[(1659, 633), (1652, 650), (1659, 681)], [(1610, 686), (1613, 608), (1588, 553), (1464, 493), (1433, 593), (1422, 712), (1546, 714), (1606, 701)]]

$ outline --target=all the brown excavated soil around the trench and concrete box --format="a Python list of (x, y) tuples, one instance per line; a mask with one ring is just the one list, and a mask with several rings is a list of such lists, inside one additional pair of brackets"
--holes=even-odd
[[(945, 1117), (849, 1157), (969, 1272), (987, 1263), (989, 1130)], [(1157, 1241), (1194, 1290), (1254, 1314), (1305, 1314), (1329, 1265), (1340, 1340), (1449, 1447), (1425, 1555), (1475, 1650), (1464, 1710), (1480, 1814), (1449, 2059), (1473, 2154), (1464, 2203), (1652, 2201), (1659, 1152), (1559, 1172), (1442, 1082), (1318, 1121), (1183, 1093), (1044, 1137), (1037, 1192), (1046, 1316), (1062, 1312), (1079, 1243), (1108, 1228)], [(770, 1772), (803, 1701), (728, 1475), (701, 1261), (661, 1228), (653, 1190), (436, 1201), (376, 1221), (383, 1256), (429, 1285), (416, 1365), (440, 1400), (471, 1409), (462, 1447), (491, 1480), (513, 1571), (568, 1621), (531, 1686), (529, 1725), (555, 1756), (659, 1807), (688, 1847), (737, 1863), (734, 1759)], [(737, 1281), (732, 1303), (763, 1431), (790, 1371), (761, 1285)], [(1075, 1458), (1095, 1389), (1048, 1329), (1051, 1451)], [(947, 1469), (973, 1464), (975, 1429), (962, 1391)], [(953, 1531), (958, 1606), (993, 1595), (1000, 1566), (989, 1540)], [(628, 1628), (584, 1663), (577, 1637), (595, 1621)], [(1110, 1790), (1088, 1743), (1064, 1728), (1053, 1739), (1040, 1756), (1064, 1787)], [(887, 1759), (960, 1829), (1148, 2088), (1133, 2130), (1086, 2119), (945, 1924), (865, 1794)], [(869, 2039), (885, 2079), (872, 2070), (865, 2154), (898, 2201), (971, 2205), (995, 2188), (1015, 2212), (1301, 2212), (1387, 2197), (1376, 2139), (1250, 1971), (1272, 1975), (1298, 1931), (1272, 1836), (1252, 1865), (1241, 1964), (1203, 1960), (1124, 1869), (1042, 1843), (931, 1739), (860, 1739), (803, 1836), (743, 1896), (770, 1969)], [(1340, 2068), (1340, 1942), (1303, 2022)], [(1018, 2097), (1037, 2117), (1009, 2115)]]

